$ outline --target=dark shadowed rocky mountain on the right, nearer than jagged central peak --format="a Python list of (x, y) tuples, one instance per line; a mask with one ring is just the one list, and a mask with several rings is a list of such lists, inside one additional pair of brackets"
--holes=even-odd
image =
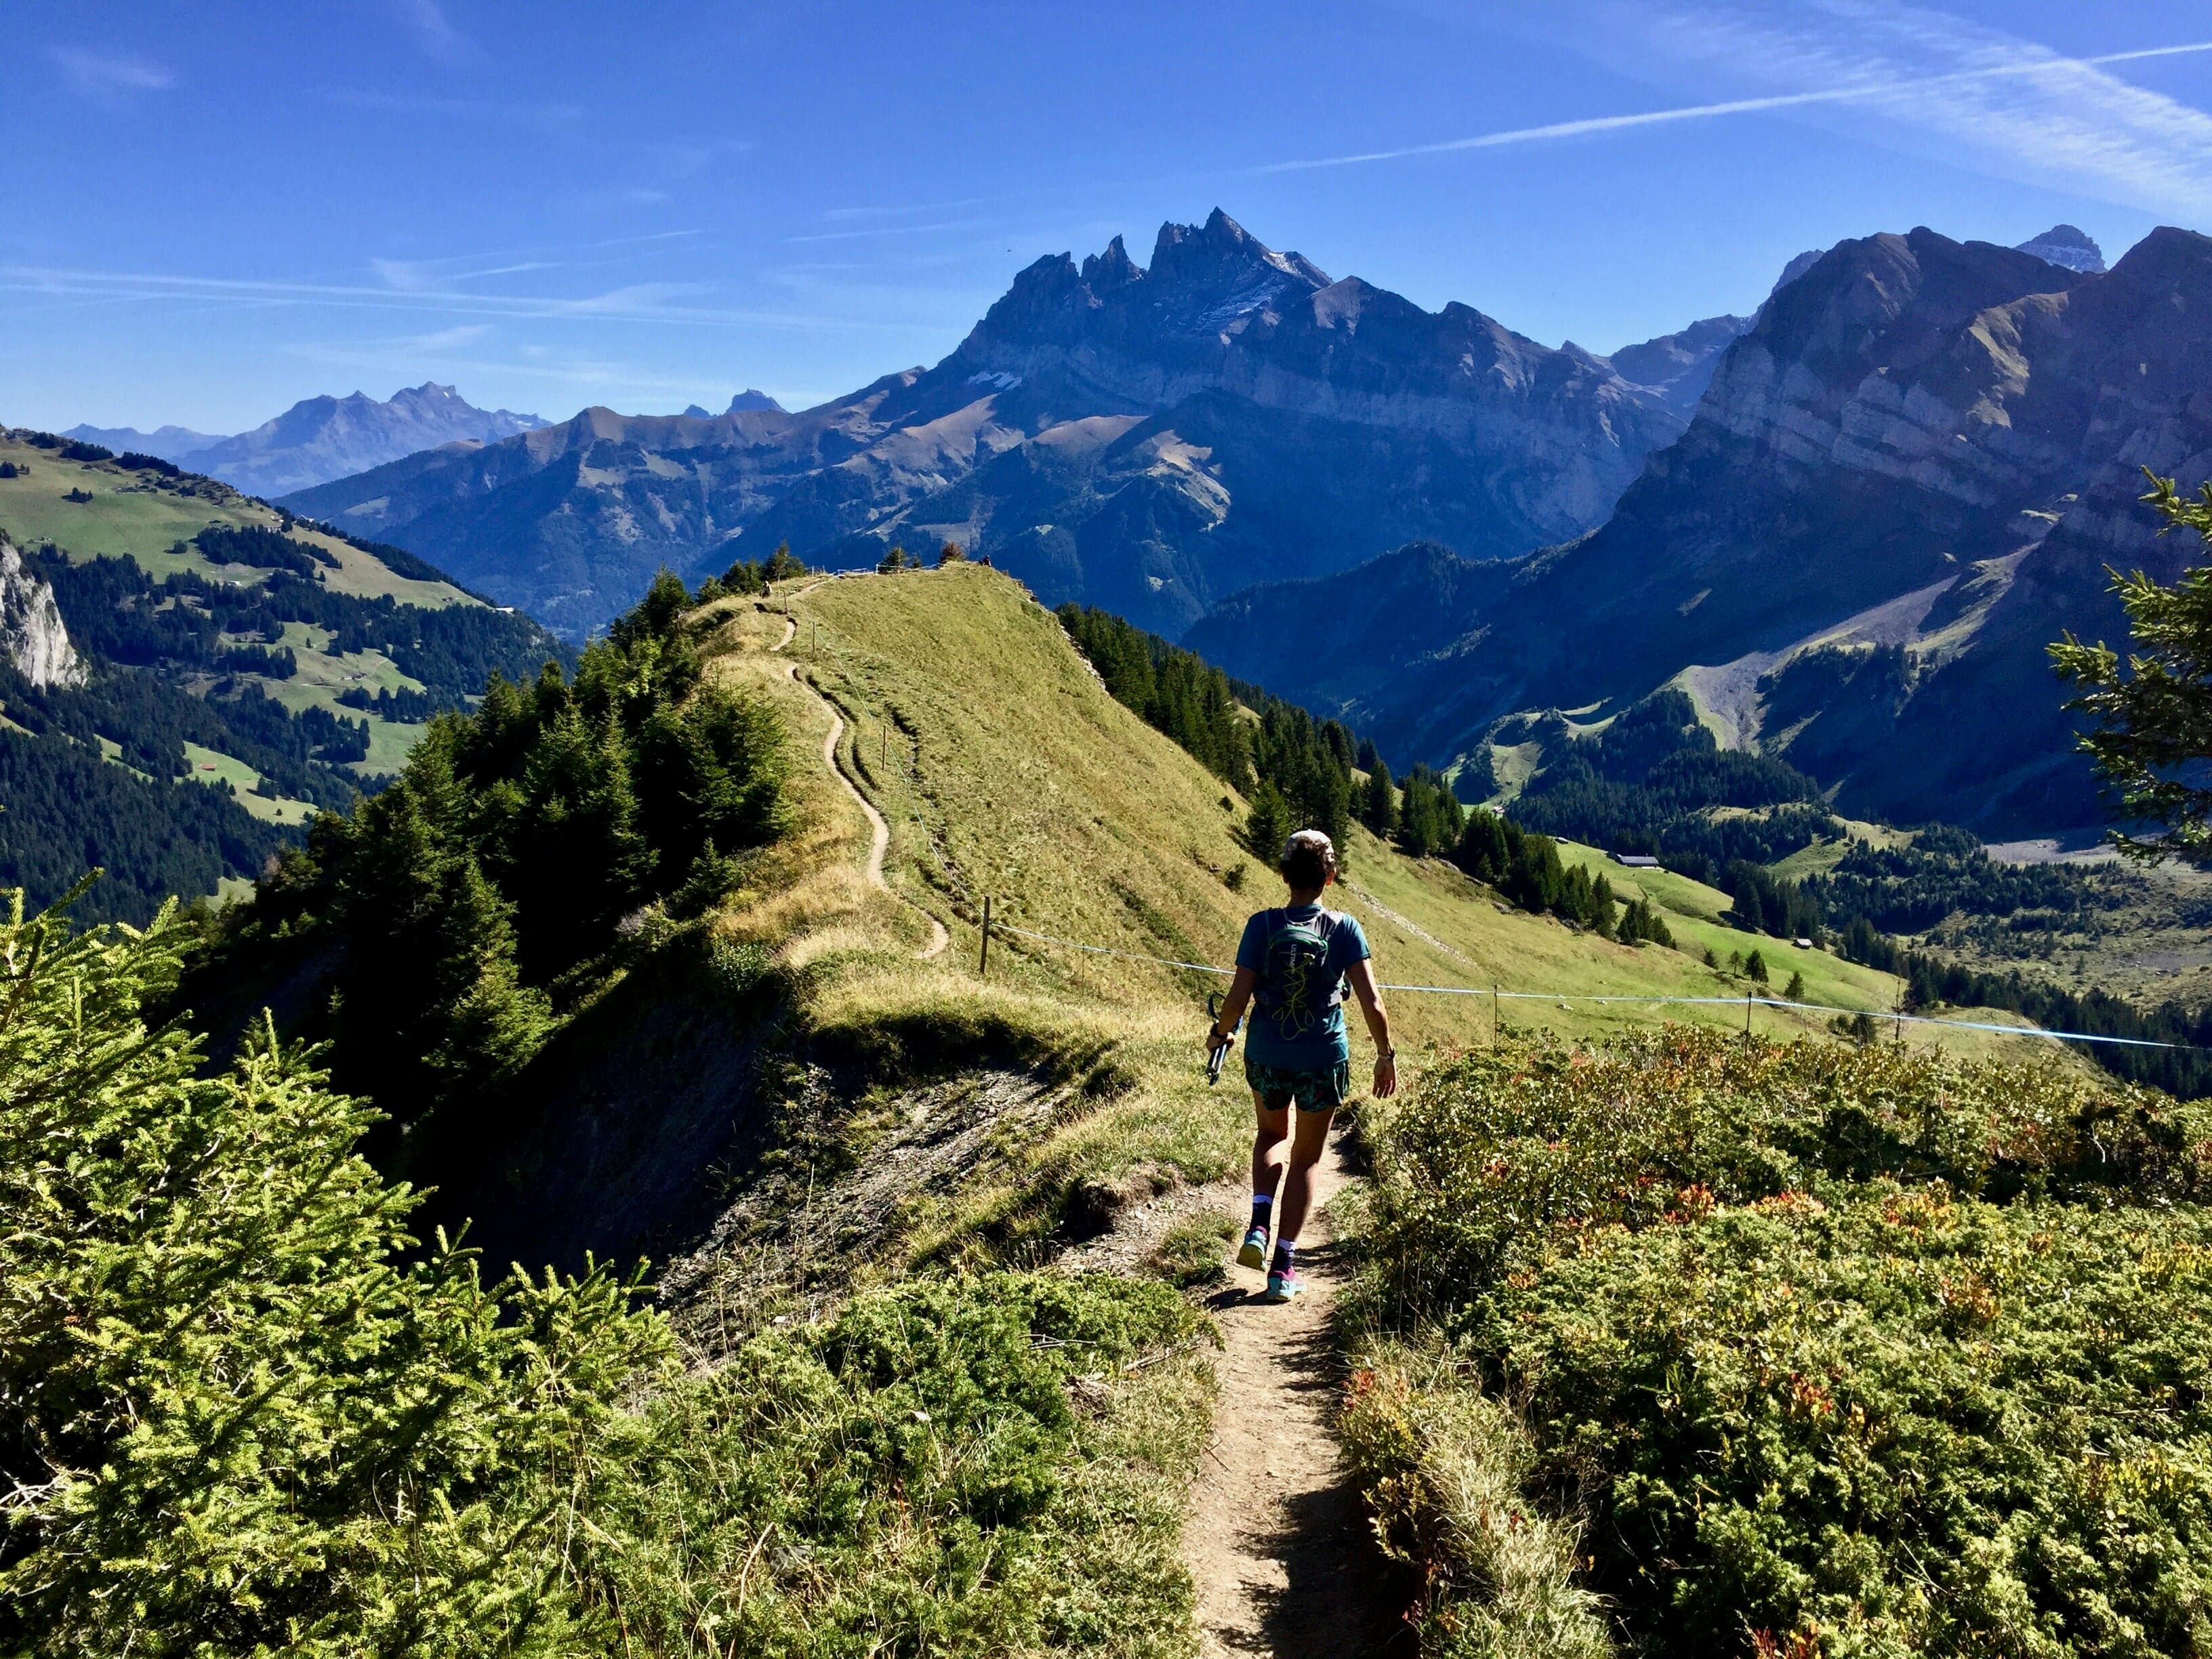
[[(2044, 646), (2126, 639), (2108, 564), (2203, 560), (2137, 498), (2143, 467), (2212, 478), (2208, 387), (2212, 239), (2154, 230), (2104, 274), (1931, 230), (1845, 241), (1730, 345), (1601, 529), (1261, 586), (1188, 644), (1409, 759), (1674, 684), (1858, 814), (2097, 823)], [(1349, 648), (1294, 648), (1312, 617)]]

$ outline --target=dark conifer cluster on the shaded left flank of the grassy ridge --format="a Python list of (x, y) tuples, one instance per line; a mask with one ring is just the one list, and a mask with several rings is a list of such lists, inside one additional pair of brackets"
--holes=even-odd
[(664, 573), (575, 679), (546, 664), (434, 719), (392, 787), (316, 818), (226, 911), (186, 1002), (259, 1006), (321, 975), (301, 1031), (403, 1128), (507, 1084), (604, 982), (633, 916), (697, 916), (732, 856), (781, 832), (776, 717), (703, 684), (688, 604)]

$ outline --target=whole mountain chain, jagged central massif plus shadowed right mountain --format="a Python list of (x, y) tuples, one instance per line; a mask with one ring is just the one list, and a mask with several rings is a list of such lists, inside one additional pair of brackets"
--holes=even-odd
[(1867, 237), (1792, 259), (1754, 316), (1597, 356), (1217, 210), (1148, 265), (1040, 259), (942, 363), (816, 409), (586, 409), (285, 504), (568, 637), (661, 564), (951, 538), (1400, 761), (1679, 684), (1847, 810), (2042, 832), (2097, 816), (2042, 646), (2121, 637), (2104, 560), (2194, 555), (2132, 498), (2139, 465), (2212, 476), (2205, 248), (2159, 230), (2106, 272), (2070, 226)]

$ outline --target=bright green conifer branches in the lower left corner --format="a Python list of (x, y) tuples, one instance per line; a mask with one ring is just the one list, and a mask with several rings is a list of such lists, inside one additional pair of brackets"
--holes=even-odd
[(376, 1113), (265, 1022), (226, 1068), (148, 1029), (188, 936), (0, 922), (0, 1648), (608, 1650), (566, 1568), (666, 1327), (411, 1239)]

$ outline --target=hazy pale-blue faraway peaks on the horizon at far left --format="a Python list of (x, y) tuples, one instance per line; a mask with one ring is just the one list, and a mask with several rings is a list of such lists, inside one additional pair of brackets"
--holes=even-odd
[(232, 438), (186, 427), (71, 427), (62, 436), (170, 462), (190, 460), (192, 471), (221, 478), (248, 495), (283, 495), (422, 449), (498, 442), (542, 425), (538, 416), (478, 409), (453, 387), (425, 380), (394, 392), (387, 403), (363, 392), (347, 398), (303, 398), (274, 420)]

